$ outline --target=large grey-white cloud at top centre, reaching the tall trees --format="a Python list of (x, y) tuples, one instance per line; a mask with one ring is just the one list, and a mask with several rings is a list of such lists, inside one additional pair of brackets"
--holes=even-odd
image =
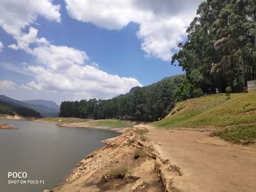
[(72, 18), (109, 30), (120, 30), (130, 22), (147, 56), (170, 60), (172, 49), (184, 39), (185, 30), (202, 0), (65, 0)]

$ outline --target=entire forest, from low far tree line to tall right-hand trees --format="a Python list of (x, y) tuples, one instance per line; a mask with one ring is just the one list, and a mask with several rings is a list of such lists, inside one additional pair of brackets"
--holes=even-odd
[(171, 60), (184, 75), (164, 78), (147, 87), (108, 100), (63, 101), (60, 117), (157, 121), (176, 102), (208, 89), (246, 91), (256, 79), (256, 5), (253, 0), (208, 0), (187, 28), (187, 40)]

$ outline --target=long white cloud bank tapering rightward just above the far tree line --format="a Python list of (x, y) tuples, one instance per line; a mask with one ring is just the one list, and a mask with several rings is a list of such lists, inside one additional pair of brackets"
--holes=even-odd
[[(72, 61), (70, 61), (72, 62)], [(132, 87), (142, 86), (135, 78), (119, 77), (103, 72), (89, 65), (73, 63), (68, 70), (52, 69), (47, 66), (29, 66), (27, 69), (34, 74), (36, 81), (23, 84), (27, 90), (47, 90), (68, 93), (73, 97), (111, 98), (130, 91)], [(58, 68), (59, 67), (59, 68)]]

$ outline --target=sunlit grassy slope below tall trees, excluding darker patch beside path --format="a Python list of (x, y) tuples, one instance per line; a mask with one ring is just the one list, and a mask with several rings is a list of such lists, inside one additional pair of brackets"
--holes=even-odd
[(188, 99), (178, 103), (173, 115), (153, 123), (156, 127), (224, 127), (238, 124), (256, 124), (256, 92), (215, 94)]

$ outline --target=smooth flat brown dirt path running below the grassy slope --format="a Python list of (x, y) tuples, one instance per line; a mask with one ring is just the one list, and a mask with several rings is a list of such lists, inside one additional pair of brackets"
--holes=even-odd
[(143, 125), (163, 159), (179, 166), (172, 175), (182, 191), (256, 191), (256, 146), (209, 137), (209, 131), (159, 130)]

